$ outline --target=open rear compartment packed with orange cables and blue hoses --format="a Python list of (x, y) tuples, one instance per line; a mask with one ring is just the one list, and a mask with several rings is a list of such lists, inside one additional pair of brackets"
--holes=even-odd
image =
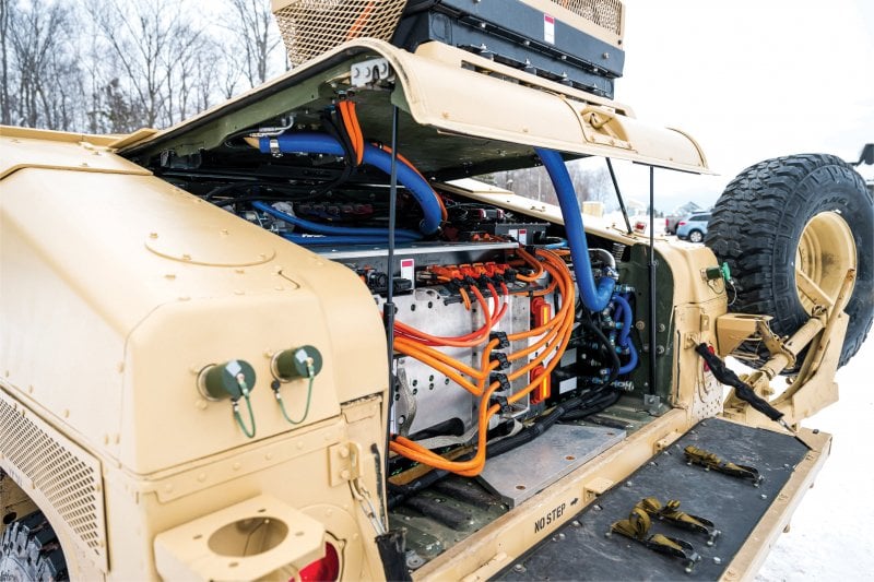
[[(410, 568), (664, 411), (646, 368), (646, 245), (465, 197), (343, 130), (246, 141), (271, 171), (164, 178), (344, 265), (371, 294), (393, 330), (387, 506), (409, 531)], [(362, 165), (350, 164), (359, 147)]]

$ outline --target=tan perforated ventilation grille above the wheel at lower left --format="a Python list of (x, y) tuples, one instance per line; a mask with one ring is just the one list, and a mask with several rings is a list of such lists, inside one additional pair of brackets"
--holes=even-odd
[[(106, 532), (99, 462), (42, 420), (27, 418), (0, 392), (0, 456), (33, 484), (25, 490), (40, 509), (55, 513), (106, 568)], [(17, 408), (17, 409), (16, 409)], [(42, 426), (40, 426), (42, 425)], [(43, 497), (48, 507), (40, 503)]]

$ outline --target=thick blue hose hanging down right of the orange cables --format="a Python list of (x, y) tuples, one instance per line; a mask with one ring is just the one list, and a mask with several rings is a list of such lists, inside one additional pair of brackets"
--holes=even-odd
[(602, 311), (610, 304), (616, 282), (609, 276), (601, 277), (598, 286), (592, 275), (592, 262), (589, 259), (589, 245), (586, 242), (586, 231), (582, 228), (580, 205), (577, 202), (577, 192), (574, 182), (565, 166), (562, 154), (554, 150), (535, 147), (543, 166), (550, 174), (550, 179), (558, 197), (558, 206), (565, 218), (570, 257), (574, 260), (574, 273), (577, 275), (577, 286), (580, 288), (580, 299), (590, 311)]

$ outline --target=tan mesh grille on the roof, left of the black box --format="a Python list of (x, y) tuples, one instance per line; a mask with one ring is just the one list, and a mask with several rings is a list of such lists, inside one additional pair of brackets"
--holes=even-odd
[(405, 4), (406, 0), (291, 0), (274, 15), (288, 60), (300, 64), (353, 38), (391, 39)]

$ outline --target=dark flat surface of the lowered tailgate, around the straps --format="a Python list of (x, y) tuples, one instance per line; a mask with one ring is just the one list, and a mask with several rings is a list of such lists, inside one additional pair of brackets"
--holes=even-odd
[[(725, 461), (754, 466), (764, 480), (754, 487), (749, 480), (689, 466), (683, 455), (688, 444)], [(805, 447), (788, 435), (714, 418), (702, 421), (497, 579), (718, 580), (806, 453)], [(524, 470), (532, 472), (531, 467)], [(618, 534), (604, 535), (613, 522), (627, 519), (645, 497), (657, 497), (662, 503), (677, 499), (682, 511), (709, 519), (722, 532), (713, 546), (707, 546), (705, 536), (653, 519), (649, 535), (661, 533), (684, 539), (701, 556), (692, 573), (685, 573), (675, 558)]]

